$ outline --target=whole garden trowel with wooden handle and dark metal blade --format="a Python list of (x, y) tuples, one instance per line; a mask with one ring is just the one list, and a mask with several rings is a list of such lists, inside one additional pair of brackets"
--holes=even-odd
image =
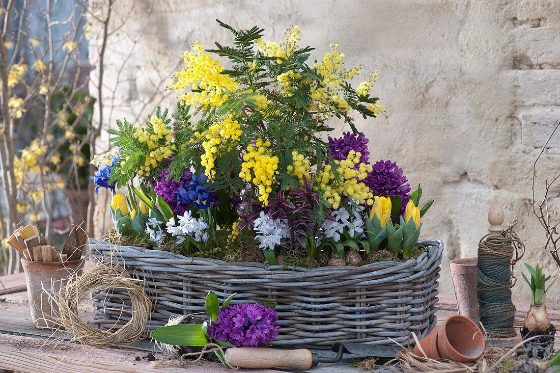
[(230, 347), (225, 352), (226, 362), (240, 368), (292, 368), (307, 370), (320, 362), (335, 363), (345, 353), (363, 356), (395, 357), (401, 347), (375, 346), (363, 343), (335, 343), (332, 347), (337, 352), (335, 357), (319, 357), (309, 349), (275, 349), (267, 347)]

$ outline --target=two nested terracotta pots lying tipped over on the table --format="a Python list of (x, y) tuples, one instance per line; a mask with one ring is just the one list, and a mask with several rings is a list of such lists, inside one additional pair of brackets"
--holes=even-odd
[(422, 338), (414, 353), (435, 360), (470, 363), (484, 353), (484, 335), (468, 317), (452, 315)]

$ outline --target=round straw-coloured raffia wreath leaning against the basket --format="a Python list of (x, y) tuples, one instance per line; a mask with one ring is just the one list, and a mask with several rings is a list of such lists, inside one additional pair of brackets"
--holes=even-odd
[[(122, 328), (108, 331), (87, 325), (78, 316), (78, 305), (92, 291), (120, 288), (128, 292), (132, 303), (132, 317)], [(59, 292), (49, 293), (50, 301), (57, 305), (60, 317), (56, 322), (72, 335), (72, 342), (95, 347), (126, 346), (142, 339), (151, 314), (152, 302), (144, 291), (141, 280), (130, 278), (128, 272), (116, 263), (97, 263), (81, 276), (68, 281)]]

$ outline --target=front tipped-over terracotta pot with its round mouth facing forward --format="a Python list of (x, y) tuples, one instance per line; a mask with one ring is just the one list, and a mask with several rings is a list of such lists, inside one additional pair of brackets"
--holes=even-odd
[(447, 317), (437, 333), (437, 351), (442, 359), (470, 363), (484, 353), (484, 336), (468, 317)]

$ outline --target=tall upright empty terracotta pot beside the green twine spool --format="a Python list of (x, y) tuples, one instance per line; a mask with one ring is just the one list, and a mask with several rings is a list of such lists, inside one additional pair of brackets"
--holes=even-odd
[(455, 289), (459, 315), (479, 323), (477, 299), (477, 261), (478, 257), (468, 257), (449, 261), (449, 271)]

